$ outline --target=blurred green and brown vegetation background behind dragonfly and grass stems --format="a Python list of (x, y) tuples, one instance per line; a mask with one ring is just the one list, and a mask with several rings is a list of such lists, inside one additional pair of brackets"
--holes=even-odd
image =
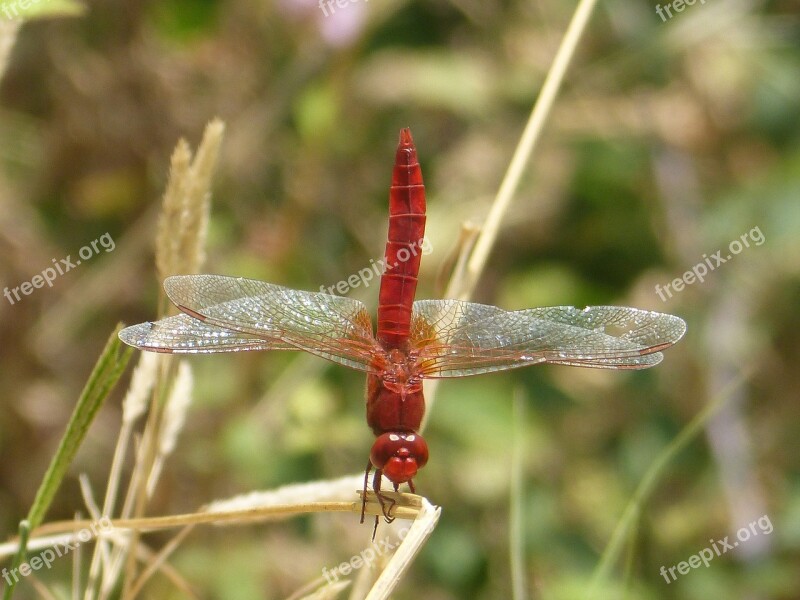
[[(418, 298), (440, 297), (461, 224), (485, 218), (573, 5), (91, 0), (81, 16), (26, 23), (0, 82), (0, 286), (104, 234), (113, 249), (52, 288), (0, 298), (3, 537), (115, 324), (155, 317), (155, 225), (180, 137), (196, 147), (208, 121), (226, 123), (204, 270), (319, 290), (382, 256), (394, 148), (411, 127), (433, 247)], [(720, 395), (643, 508), (630, 597), (800, 598), (800, 4), (656, 8), (600, 3), (473, 299), (636, 306), (683, 317), (688, 333), (644, 372), (540, 366), (444, 382), (416, 480), (442, 517), (397, 598), (509, 597), (519, 444), (532, 596), (583, 597), (647, 469)], [(714, 265), (704, 281), (684, 278), (700, 263)], [(351, 295), (374, 310), (377, 286)], [(150, 514), (363, 468), (363, 375), (293, 353), (191, 362), (194, 403)], [(80, 473), (105, 489), (127, 379), (48, 519), (82, 509)], [(708, 568), (659, 574), (764, 515), (770, 533)], [(349, 514), (200, 527), (170, 562), (200, 597), (284, 598), (370, 533)], [(66, 590), (62, 562), (41, 577)], [(148, 590), (182, 597), (159, 577)]]

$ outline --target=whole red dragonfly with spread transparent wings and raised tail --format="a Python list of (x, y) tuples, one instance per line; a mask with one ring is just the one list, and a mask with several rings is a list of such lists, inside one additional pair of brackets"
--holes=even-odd
[(364, 371), (367, 423), (377, 438), (364, 491), (374, 468), (372, 488), (388, 520), (381, 475), (395, 491), (407, 483), (414, 492), (413, 478), (428, 462), (419, 433), (424, 379), (540, 363), (645, 369), (661, 362), (660, 351), (686, 331), (673, 315), (618, 306), (508, 312), (459, 300), (415, 302), (424, 233), (422, 172), (411, 131), (403, 129), (389, 190), (388, 267), (376, 333), (364, 304), (352, 298), (241, 277), (177, 275), (164, 289), (183, 314), (128, 327), (119, 337), (142, 350), (176, 354), (305, 350)]

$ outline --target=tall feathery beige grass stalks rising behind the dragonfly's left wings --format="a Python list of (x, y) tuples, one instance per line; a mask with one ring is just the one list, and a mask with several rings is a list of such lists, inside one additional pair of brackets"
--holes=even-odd
[[(205, 240), (211, 198), (211, 182), (222, 142), (224, 125), (219, 120), (207, 127), (203, 140), (192, 160), (189, 145), (181, 140), (173, 152), (170, 177), (164, 193), (163, 210), (156, 239), (156, 266), (160, 278), (180, 272), (197, 272), (205, 259)], [(162, 294), (159, 314), (166, 312)], [(152, 407), (136, 452), (136, 461), (121, 509), (121, 517), (144, 514), (147, 498), (158, 481), (164, 461), (175, 447), (183, 428), (191, 398), (191, 371), (186, 365), (177, 369), (169, 357), (144, 353), (131, 379), (123, 402), (123, 419), (114, 451), (108, 486), (103, 503), (104, 515), (114, 513), (124, 464), (136, 421)], [(173, 380), (172, 393), (164, 402), (164, 390)], [(152, 401), (151, 401), (152, 399)], [(127, 543), (108, 548), (98, 543), (90, 566), (89, 586), (85, 598), (106, 598), (119, 580), (125, 565), (123, 597), (130, 597), (135, 585), (137, 534)], [(125, 558), (127, 556), (127, 559)], [(100, 573), (102, 572), (102, 576)], [(98, 589), (99, 588), (99, 589)]]

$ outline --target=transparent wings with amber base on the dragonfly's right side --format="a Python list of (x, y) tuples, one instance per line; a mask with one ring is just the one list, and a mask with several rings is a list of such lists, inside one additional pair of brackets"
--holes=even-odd
[(686, 323), (673, 315), (619, 306), (508, 312), (458, 300), (419, 300), (412, 345), (424, 377), (462, 377), (553, 363), (645, 369), (661, 362)]

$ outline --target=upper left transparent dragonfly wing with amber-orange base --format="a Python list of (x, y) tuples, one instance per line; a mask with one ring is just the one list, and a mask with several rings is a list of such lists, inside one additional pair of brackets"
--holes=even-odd
[[(195, 344), (207, 348), (195, 351), (203, 352), (305, 350), (361, 371), (374, 370), (384, 354), (366, 308), (352, 298), (221, 275), (168, 277), (164, 289), (181, 311), (203, 325), (192, 332), (190, 321), (163, 321), (160, 338), (177, 340), (181, 348), (194, 338)], [(167, 332), (171, 325), (177, 327)], [(218, 328), (227, 332), (217, 332), (214, 340), (210, 333)]]

